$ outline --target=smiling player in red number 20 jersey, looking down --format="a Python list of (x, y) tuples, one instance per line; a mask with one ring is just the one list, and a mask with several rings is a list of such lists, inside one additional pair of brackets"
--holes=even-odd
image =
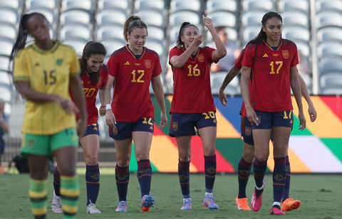
[[(80, 139), (83, 149), (84, 160), (86, 161), (86, 188), (87, 188), (87, 213), (101, 213), (95, 207), (100, 190), (100, 170), (98, 167), (98, 151), (100, 149), (100, 139), (98, 132), (98, 108), (96, 108), (96, 95), (100, 95), (100, 101), (105, 105), (105, 86), (108, 82), (108, 68), (103, 64), (106, 55), (105, 47), (102, 43), (89, 41), (83, 48), (80, 59), (81, 79), (83, 92), (86, 97), (88, 112), (86, 134)], [(77, 116), (78, 119), (79, 116)], [(61, 195), (59, 172), (57, 167), (53, 172), (53, 200), (51, 210), (61, 213)]]

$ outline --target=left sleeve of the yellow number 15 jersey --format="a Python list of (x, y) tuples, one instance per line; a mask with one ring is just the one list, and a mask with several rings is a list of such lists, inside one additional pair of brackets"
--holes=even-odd
[(14, 59), (14, 80), (29, 80), (28, 62), (24, 50), (20, 50)]

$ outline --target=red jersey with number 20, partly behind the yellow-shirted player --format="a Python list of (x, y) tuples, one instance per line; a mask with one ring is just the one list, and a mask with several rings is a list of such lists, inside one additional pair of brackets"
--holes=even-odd
[(107, 85), (108, 82), (108, 68), (106, 65), (101, 66), (99, 73), (100, 78), (98, 78), (97, 85), (93, 85), (91, 83), (91, 78), (87, 71), (86, 73), (83, 73), (82, 76), (83, 92), (84, 96), (86, 97), (86, 105), (88, 112), (88, 125), (98, 123), (98, 108), (96, 107), (96, 95), (98, 95), (98, 90), (100, 89), (100, 87), (105, 87), (105, 85)]

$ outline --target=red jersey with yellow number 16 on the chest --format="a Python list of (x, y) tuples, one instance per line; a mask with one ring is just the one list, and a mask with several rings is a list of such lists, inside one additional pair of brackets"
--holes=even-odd
[[(196, 57), (190, 56), (182, 68), (174, 68), (170, 63), (174, 80), (170, 112), (216, 111), (210, 87), (210, 64), (214, 62), (212, 60), (214, 50), (207, 46), (199, 48)], [(184, 50), (175, 46), (170, 50), (170, 59), (183, 52)]]

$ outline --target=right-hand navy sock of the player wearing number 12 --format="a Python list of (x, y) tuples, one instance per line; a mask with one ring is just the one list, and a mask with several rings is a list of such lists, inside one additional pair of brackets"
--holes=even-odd
[(141, 197), (150, 195), (152, 167), (150, 160), (138, 161), (138, 181), (140, 184)]

